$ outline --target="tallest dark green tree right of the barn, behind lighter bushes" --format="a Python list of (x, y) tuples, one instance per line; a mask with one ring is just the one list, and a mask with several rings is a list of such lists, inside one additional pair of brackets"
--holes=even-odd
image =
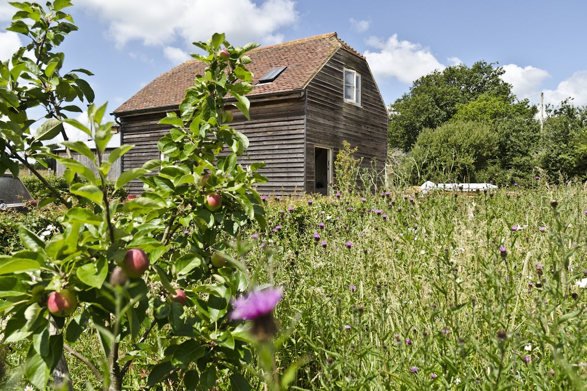
[(471, 67), (458, 64), (420, 77), (409, 93), (389, 107), (390, 147), (409, 151), (424, 128), (434, 129), (446, 123), (457, 114), (460, 105), (481, 96), (514, 101), (510, 84), (500, 77), (504, 72), (492, 63), (479, 61)]

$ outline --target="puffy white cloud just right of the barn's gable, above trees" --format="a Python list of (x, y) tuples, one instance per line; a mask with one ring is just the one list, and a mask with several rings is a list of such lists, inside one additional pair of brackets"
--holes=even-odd
[(412, 83), (436, 69), (445, 68), (429, 49), (419, 43), (400, 41), (397, 34), (390, 36), (386, 41), (371, 37), (367, 40), (367, 45), (379, 49), (379, 52), (365, 52), (376, 79), (396, 77), (404, 83)]

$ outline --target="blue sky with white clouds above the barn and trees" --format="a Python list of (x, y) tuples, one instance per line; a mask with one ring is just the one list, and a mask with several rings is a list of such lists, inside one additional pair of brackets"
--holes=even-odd
[[(73, 0), (79, 31), (60, 50), (66, 67), (87, 80), (109, 111), (159, 74), (188, 59), (191, 42), (225, 32), (233, 45), (276, 42), (327, 32), (367, 57), (386, 104), (434, 69), (498, 62), (519, 98), (587, 104), (587, 2), (494, 0)], [(14, 13), (0, 3), (0, 26)], [(20, 42), (24, 42), (20, 38)], [(20, 45), (0, 33), (0, 57)]]

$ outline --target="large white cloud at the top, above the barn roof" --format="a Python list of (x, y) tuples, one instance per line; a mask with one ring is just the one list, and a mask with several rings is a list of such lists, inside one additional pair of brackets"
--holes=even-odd
[(276, 43), (275, 33), (298, 18), (292, 0), (79, 0), (109, 23), (108, 36), (119, 47), (131, 40), (144, 45), (168, 46), (181, 40), (191, 44), (206, 40), (214, 32), (244, 44), (250, 41)]

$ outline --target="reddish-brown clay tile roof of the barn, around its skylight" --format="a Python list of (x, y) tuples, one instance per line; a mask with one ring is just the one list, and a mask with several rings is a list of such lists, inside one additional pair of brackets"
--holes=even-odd
[[(252, 84), (255, 87), (248, 96), (304, 89), (338, 49), (363, 57), (339, 39), (335, 32), (251, 50), (247, 54), (252, 63), (247, 65), (247, 69), (253, 73)], [(114, 113), (179, 106), (184, 91), (193, 85), (195, 75), (203, 73), (204, 65), (198, 60), (188, 60), (160, 74)], [(274, 81), (257, 85), (269, 70), (280, 66), (287, 67)]]

